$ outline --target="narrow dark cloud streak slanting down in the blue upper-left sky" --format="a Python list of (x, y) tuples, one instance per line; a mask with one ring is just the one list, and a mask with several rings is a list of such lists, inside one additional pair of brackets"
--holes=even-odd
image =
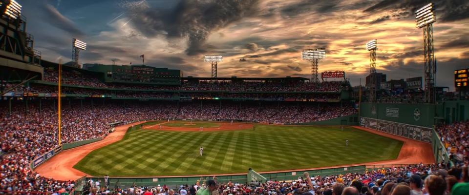
[(72, 36), (77, 36), (80, 38), (85, 35), (73, 21), (66, 18), (62, 15), (54, 6), (50, 4), (45, 4), (42, 7), (43, 13), (48, 21), (48, 23), (56, 28), (59, 28)]

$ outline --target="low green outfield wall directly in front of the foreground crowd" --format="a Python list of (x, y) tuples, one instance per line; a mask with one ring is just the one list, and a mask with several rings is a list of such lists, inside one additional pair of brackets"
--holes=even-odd
[[(248, 171), (248, 170), (247, 170)], [(305, 170), (309, 173), (310, 176), (330, 176), (330, 175), (339, 175), (339, 174), (346, 174), (346, 173), (356, 173), (356, 172), (364, 172), (365, 166), (343, 166), (337, 168), (330, 168), (330, 169), (313, 169), (313, 170)], [(276, 173), (269, 173), (269, 174), (262, 174), (259, 175), (265, 177), (268, 180), (296, 180), (299, 176), (303, 176), (305, 171), (289, 171), (289, 172), (276, 172)], [(228, 183), (229, 181), (233, 183), (247, 183), (248, 182), (248, 172), (246, 174), (241, 175), (228, 175), (228, 176), (216, 176), (218, 183)], [(109, 188), (128, 188), (132, 185), (136, 186), (157, 186), (157, 185), (168, 185), (170, 188), (179, 187), (179, 185), (184, 184), (195, 184), (198, 179), (209, 179), (213, 176), (175, 176), (175, 177), (109, 177)], [(94, 181), (96, 179), (100, 180), (100, 183), (104, 185), (104, 177), (88, 177), (92, 178)], [(202, 181), (200, 182), (202, 183)]]

